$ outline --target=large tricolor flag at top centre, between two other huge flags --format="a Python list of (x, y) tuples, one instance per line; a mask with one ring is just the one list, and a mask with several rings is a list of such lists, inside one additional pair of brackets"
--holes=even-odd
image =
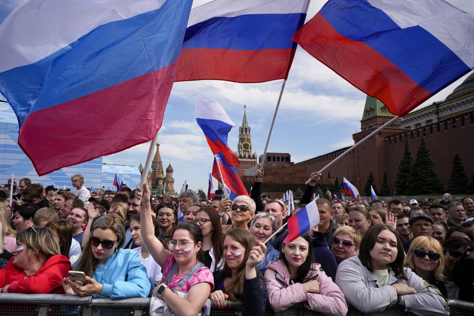
[(175, 81), (288, 76), (309, 0), (214, 0), (191, 10)]

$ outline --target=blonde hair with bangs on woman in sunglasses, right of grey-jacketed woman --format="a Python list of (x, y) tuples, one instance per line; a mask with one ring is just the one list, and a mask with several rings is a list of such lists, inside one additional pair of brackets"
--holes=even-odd
[(430, 251), (435, 251), (439, 253), (441, 256), (436, 264), (435, 270), (432, 271), (433, 276), (435, 279), (443, 281), (444, 280), (444, 255), (443, 255), (443, 248), (439, 241), (437, 241), (433, 237), (429, 236), (419, 236), (413, 239), (410, 245), (410, 249), (405, 256), (405, 261), (403, 262), (403, 266), (410, 268), (413, 272), (415, 272), (415, 262), (414, 262), (414, 253), (413, 250), (420, 249), (423, 247), (427, 247)]

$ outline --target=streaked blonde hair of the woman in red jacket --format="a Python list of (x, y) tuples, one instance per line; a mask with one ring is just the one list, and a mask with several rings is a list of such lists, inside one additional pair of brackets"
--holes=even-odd
[(26, 246), (37, 256), (43, 253), (46, 258), (61, 254), (59, 244), (54, 238), (53, 232), (47, 227), (30, 227), (16, 233), (16, 242)]

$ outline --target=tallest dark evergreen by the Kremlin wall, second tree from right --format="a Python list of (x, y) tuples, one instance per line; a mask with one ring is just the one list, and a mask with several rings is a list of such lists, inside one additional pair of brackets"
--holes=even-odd
[(434, 166), (435, 163), (431, 160), (430, 150), (426, 146), (425, 139), (422, 138), (410, 173), (409, 194), (443, 193), (443, 185), (439, 181)]

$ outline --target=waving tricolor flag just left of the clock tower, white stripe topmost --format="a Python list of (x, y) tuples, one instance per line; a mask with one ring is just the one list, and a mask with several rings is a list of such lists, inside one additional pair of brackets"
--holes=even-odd
[(238, 166), (238, 158), (227, 144), (228, 134), (236, 124), (229, 118), (224, 108), (214, 100), (197, 96), (196, 121), (204, 132), (212, 153), (214, 155), (222, 153), (229, 165)]

